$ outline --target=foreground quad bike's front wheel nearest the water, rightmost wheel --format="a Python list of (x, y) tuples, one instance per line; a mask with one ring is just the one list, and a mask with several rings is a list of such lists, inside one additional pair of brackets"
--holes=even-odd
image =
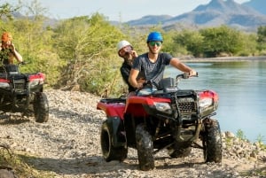
[(208, 119), (204, 122), (203, 153), (206, 162), (222, 162), (222, 136), (217, 120)]

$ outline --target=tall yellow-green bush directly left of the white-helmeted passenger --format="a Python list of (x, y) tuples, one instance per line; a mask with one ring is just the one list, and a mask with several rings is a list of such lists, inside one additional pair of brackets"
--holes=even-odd
[(114, 49), (121, 32), (98, 13), (66, 19), (54, 32), (54, 47), (66, 62), (59, 85), (97, 95), (112, 93), (120, 76)]

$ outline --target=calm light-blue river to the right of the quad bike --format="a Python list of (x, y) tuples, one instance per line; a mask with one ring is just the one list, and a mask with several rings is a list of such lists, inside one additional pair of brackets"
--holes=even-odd
[[(215, 119), (222, 131), (241, 131), (266, 143), (266, 61), (188, 62), (199, 73), (180, 82), (180, 89), (213, 89), (219, 95)], [(181, 72), (168, 67), (165, 76)]]

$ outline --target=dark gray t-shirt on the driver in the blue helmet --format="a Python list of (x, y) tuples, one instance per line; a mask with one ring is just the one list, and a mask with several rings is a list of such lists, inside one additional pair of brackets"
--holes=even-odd
[(157, 87), (163, 77), (165, 66), (170, 64), (171, 58), (173, 57), (170, 54), (161, 52), (156, 62), (153, 63), (149, 60), (148, 53), (145, 53), (134, 60), (132, 68), (144, 75), (146, 81), (152, 81), (154, 87)]

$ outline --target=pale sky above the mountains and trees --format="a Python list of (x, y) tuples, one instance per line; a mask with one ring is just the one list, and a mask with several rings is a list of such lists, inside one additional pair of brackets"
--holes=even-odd
[[(33, 0), (21, 0), (29, 4)], [(191, 12), (200, 4), (208, 4), (211, 0), (37, 0), (47, 15), (54, 19), (68, 19), (75, 16), (92, 15), (99, 12), (109, 20), (126, 22), (140, 19), (145, 15), (178, 16)], [(249, 0), (234, 0), (238, 4)], [(0, 4), (4, 1), (0, 0)], [(18, 0), (6, 0), (9, 4)], [(46, 13), (45, 13), (46, 14)]]

